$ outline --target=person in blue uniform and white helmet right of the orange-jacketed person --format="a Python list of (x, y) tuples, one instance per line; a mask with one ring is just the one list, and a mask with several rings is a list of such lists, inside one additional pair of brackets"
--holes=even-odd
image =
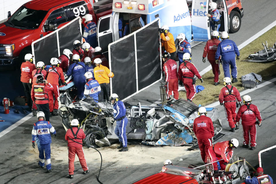
[(179, 33), (177, 36), (177, 55), (179, 59), (179, 66), (183, 63), (183, 54), (189, 53), (191, 55), (191, 45), (188, 41), (185, 40), (185, 34)]

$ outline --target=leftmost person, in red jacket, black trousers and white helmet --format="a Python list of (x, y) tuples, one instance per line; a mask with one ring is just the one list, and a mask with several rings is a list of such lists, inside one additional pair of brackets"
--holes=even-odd
[(35, 65), (32, 64), (34, 56), (32, 54), (26, 54), (25, 55), (25, 62), (21, 64), (21, 78), (20, 81), (23, 84), (24, 92), (27, 98), (27, 103), (29, 106), (29, 111), (32, 111), (32, 98), (31, 98), (31, 91), (32, 91), (32, 81), (30, 79), (32, 78), (32, 71), (35, 70)]

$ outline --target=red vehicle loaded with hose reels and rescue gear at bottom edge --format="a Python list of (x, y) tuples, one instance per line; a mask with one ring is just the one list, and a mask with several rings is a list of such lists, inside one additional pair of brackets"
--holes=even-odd
[[(215, 161), (217, 162), (217, 161)], [(202, 166), (190, 164), (188, 167), (166, 165), (160, 173), (141, 179), (133, 184), (164, 184), (164, 183), (185, 183), (185, 184), (236, 184), (243, 183), (247, 176), (253, 177), (256, 170), (244, 159), (230, 159), (225, 170), (214, 172), (212, 162)]]

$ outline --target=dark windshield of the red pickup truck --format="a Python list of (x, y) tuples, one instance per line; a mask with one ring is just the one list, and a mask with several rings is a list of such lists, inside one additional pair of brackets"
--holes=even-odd
[(5, 24), (10, 27), (36, 29), (46, 14), (47, 11), (45, 10), (34, 10), (21, 6)]

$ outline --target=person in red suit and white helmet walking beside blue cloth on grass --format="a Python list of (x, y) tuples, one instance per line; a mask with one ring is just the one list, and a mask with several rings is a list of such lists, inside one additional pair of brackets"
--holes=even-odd
[(203, 83), (203, 79), (198, 73), (198, 69), (196, 69), (192, 63), (190, 63), (190, 60), (190, 54), (184, 53), (184, 62), (181, 63), (178, 69), (179, 84), (184, 84), (188, 101), (192, 101), (196, 95), (196, 86), (193, 84), (193, 76), (196, 75), (196, 77), (200, 79), (201, 83)]

